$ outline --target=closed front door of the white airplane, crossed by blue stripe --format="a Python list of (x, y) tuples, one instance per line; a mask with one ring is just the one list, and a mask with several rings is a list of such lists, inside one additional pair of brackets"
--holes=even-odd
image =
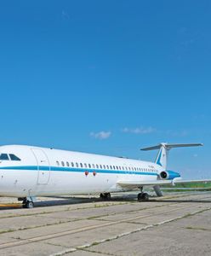
[(37, 184), (47, 184), (50, 177), (50, 166), (47, 155), (40, 148), (31, 148), (32, 153), (37, 160)]

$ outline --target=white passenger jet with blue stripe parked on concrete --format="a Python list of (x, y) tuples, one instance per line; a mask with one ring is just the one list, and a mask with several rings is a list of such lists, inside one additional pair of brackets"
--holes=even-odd
[(184, 180), (167, 170), (171, 148), (202, 146), (160, 143), (141, 150), (159, 149), (155, 162), (100, 154), (87, 154), (26, 145), (0, 147), (0, 196), (17, 197), (23, 207), (33, 208), (37, 196), (100, 194), (108, 200), (112, 192), (140, 189), (138, 201), (148, 201), (145, 187), (162, 196), (164, 184), (211, 181)]

